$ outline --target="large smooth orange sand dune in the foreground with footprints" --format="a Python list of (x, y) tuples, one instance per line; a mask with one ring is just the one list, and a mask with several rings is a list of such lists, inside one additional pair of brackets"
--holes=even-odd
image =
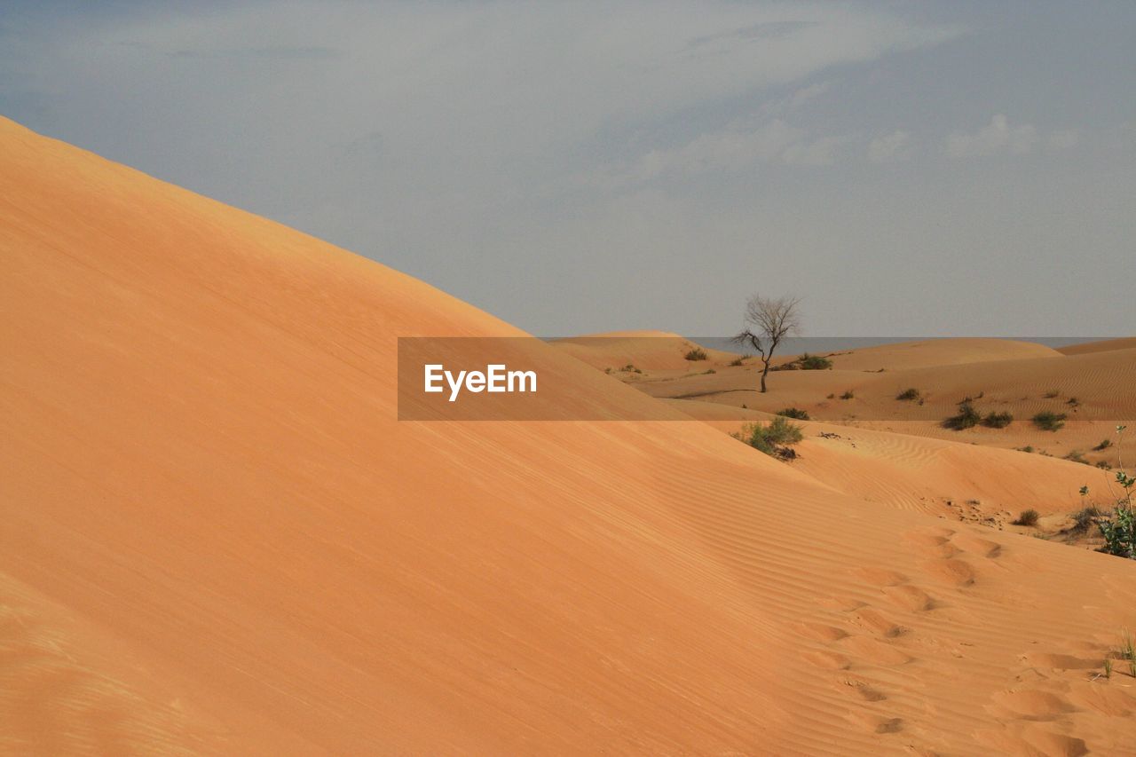
[(1128, 563), (701, 422), (399, 423), (395, 335), (518, 332), (10, 122), (0, 253), (6, 751), (1131, 752)]

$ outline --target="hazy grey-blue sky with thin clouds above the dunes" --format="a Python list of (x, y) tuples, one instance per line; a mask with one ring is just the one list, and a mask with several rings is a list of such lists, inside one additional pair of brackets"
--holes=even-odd
[(1131, 335), (1134, 39), (1130, 0), (0, 0), (0, 114), (540, 335), (753, 293)]

